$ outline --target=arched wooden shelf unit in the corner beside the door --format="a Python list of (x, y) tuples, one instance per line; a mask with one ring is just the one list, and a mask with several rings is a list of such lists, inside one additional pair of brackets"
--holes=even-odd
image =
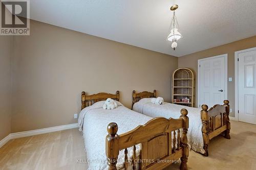
[(189, 68), (178, 68), (173, 72), (173, 103), (194, 106), (194, 74)]

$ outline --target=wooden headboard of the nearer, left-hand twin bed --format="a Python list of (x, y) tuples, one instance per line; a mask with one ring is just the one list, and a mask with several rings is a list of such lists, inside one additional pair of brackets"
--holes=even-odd
[(104, 101), (108, 98), (119, 101), (119, 99), (120, 99), (119, 91), (116, 91), (116, 94), (101, 92), (101, 93), (92, 94), (92, 95), (86, 95), (86, 92), (83, 91), (82, 95), (81, 95), (81, 100), (82, 100), (81, 109), (91, 106), (96, 102)]

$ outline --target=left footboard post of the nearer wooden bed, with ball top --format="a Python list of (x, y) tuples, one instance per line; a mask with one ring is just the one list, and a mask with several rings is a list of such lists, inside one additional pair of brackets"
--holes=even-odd
[(108, 125), (108, 135), (106, 136), (106, 158), (108, 160), (109, 170), (117, 170), (116, 163), (119, 155), (118, 139), (116, 134), (118, 126), (116, 123), (110, 123)]

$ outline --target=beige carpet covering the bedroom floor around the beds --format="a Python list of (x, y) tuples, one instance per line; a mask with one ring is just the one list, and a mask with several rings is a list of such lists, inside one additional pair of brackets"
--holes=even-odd
[[(212, 139), (209, 157), (189, 154), (189, 169), (256, 169), (256, 125), (232, 121), (231, 139)], [(1, 170), (87, 169), (77, 159), (86, 159), (77, 129), (13, 139), (0, 148)], [(179, 164), (166, 169), (179, 169)]]

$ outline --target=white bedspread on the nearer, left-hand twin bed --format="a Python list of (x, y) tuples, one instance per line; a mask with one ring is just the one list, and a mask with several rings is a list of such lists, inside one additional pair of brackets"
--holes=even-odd
[[(104, 101), (97, 102), (92, 106), (84, 108), (78, 119), (79, 130), (83, 133), (84, 145), (87, 152), (89, 168), (92, 170), (108, 169), (105, 155), (105, 137), (108, 135), (106, 127), (111, 122), (118, 125), (117, 134), (133, 130), (139, 125), (144, 125), (152, 117), (132, 111), (118, 102), (118, 107), (112, 110), (102, 108)], [(136, 146), (139, 155), (139, 145)], [(128, 156), (131, 159), (132, 149), (128, 149)], [(117, 169), (122, 167), (124, 162), (124, 150), (120, 151), (117, 162)]]

